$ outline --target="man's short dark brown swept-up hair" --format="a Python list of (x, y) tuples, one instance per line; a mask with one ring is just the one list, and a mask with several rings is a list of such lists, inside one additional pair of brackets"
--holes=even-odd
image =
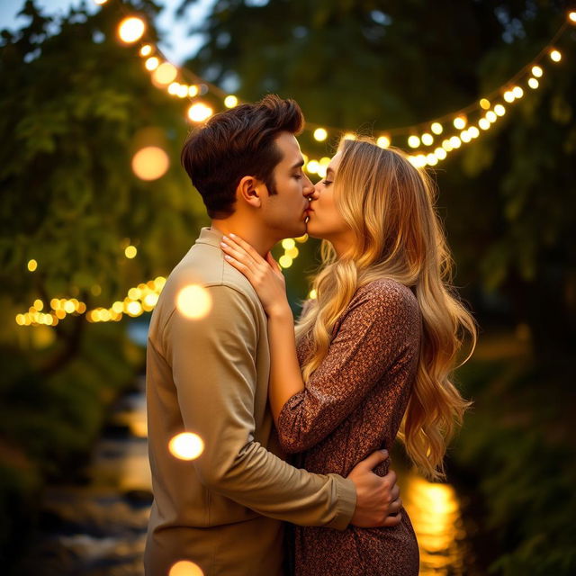
[(234, 213), (236, 188), (246, 175), (275, 194), (274, 169), (283, 155), (274, 140), (281, 132), (299, 134), (303, 125), (298, 103), (268, 94), (260, 102), (215, 114), (191, 132), (180, 159), (208, 215), (226, 218)]

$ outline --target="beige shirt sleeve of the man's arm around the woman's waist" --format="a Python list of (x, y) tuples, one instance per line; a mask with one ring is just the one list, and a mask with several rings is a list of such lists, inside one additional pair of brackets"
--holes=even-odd
[(204, 442), (193, 460), (201, 482), (271, 518), (345, 529), (356, 508), (352, 481), (298, 470), (255, 440), (255, 304), (226, 285), (206, 290), (210, 313), (189, 320), (175, 311), (165, 331), (184, 428)]

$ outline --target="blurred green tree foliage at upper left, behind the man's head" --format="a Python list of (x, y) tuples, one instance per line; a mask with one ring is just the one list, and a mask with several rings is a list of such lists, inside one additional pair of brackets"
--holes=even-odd
[[(150, 20), (157, 13), (148, 0), (133, 4)], [(38, 296), (94, 302), (98, 284), (94, 303), (110, 306), (130, 283), (166, 274), (202, 218), (178, 161), (184, 103), (151, 85), (137, 48), (116, 40), (117, 6), (55, 22), (28, 1), (23, 13), (30, 23), (3, 31), (0, 48), (3, 288), (26, 310)], [(165, 148), (172, 164), (151, 183), (130, 167), (145, 143)], [(139, 247), (133, 261), (123, 257), (129, 239)]]

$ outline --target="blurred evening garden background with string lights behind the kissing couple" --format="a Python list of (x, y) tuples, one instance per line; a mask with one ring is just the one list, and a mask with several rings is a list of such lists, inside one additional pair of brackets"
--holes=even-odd
[[(268, 92), (301, 104), (313, 181), (356, 131), (437, 180), (480, 341), (455, 376), (474, 404), (447, 482), (393, 455), (421, 573), (576, 573), (573, 8), (4, 0), (3, 573), (142, 574), (149, 314), (209, 223), (180, 148), (211, 113)], [(297, 312), (319, 244), (274, 254)]]

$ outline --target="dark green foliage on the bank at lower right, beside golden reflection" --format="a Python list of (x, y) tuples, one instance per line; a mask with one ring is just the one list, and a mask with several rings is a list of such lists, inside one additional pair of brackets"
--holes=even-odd
[(491, 573), (576, 570), (576, 459), (571, 409), (558, 401), (561, 378), (525, 357), (473, 360), (461, 370), (474, 407), (452, 454), (479, 477), (482, 529), (494, 535), (500, 553)]

